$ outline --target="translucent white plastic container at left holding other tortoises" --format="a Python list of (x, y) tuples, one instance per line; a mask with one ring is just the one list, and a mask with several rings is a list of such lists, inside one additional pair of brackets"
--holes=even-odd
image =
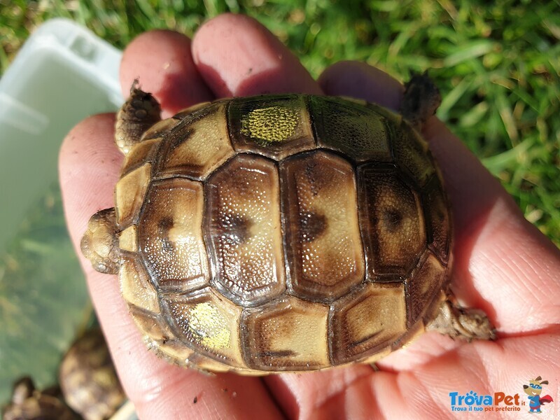
[[(121, 56), (84, 27), (54, 19), (29, 37), (0, 78), (0, 258), (8, 244), (20, 243), (26, 232), (22, 222), (41, 211), (45, 190), (52, 195), (60, 144), (71, 127), (123, 103)], [(32, 264), (15, 257), (22, 272), (34, 267), (34, 277), (10, 276), (0, 265), (0, 300), (9, 302), (0, 308), (9, 309), (0, 311), (0, 406), (8, 402), (18, 377), (29, 374), (40, 388), (55, 383), (62, 354), (91, 317), (64, 222), (45, 230), (43, 248), (28, 244), (39, 255)], [(44, 248), (50, 252), (41, 258)], [(134, 407), (127, 404), (117, 418), (136, 419)]]

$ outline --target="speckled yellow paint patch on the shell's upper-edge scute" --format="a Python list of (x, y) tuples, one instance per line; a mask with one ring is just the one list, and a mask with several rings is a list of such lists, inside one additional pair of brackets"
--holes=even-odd
[(241, 132), (269, 143), (286, 141), (295, 134), (300, 113), (286, 106), (254, 109), (241, 121)]

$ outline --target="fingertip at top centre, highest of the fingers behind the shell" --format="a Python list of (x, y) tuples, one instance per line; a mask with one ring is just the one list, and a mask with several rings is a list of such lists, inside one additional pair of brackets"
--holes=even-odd
[(217, 97), (321, 93), (300, 61), (268, 29), (243, 15), (220, 15), (200, 27), (193, 57)]

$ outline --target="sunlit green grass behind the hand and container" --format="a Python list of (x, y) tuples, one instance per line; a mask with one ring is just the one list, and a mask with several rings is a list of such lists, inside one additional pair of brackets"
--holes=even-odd
[(341, 59), (405, 80), (432, 69), (438, 112), (515, 197), (526, 218), (560, 245), (560, 3), (422, 0), (0, 0), (0, 71), (29, 32), (71, 18), (124, 48), (142, 31), (192, 35), (219, 13), (258, 19), (313, 76)]

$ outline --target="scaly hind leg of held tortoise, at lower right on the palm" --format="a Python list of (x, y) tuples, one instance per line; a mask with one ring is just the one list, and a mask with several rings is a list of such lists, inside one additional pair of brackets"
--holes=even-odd
[(460, 307), (452, 301), (452, 297), (442, 301), (437, 316), (426, 326), (426, 330), (469, 342), (472, 339), (496, 339), (496, 329), (484, 312)]

